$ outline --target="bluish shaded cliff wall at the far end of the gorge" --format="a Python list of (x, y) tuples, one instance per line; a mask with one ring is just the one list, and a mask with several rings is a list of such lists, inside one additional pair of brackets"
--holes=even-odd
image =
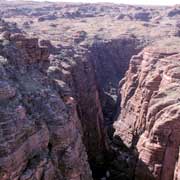
[(106, 126), (112, 124), (117, 112), (119, 81), (128, 69), (130, 58), (140, 51), (141, 46), (135, 37), (124, 35), (119, 39), (94, 43), (90, 50)]

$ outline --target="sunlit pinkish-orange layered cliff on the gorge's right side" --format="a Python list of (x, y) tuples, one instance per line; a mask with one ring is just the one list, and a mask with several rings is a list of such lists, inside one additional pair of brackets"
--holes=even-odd
[(138, 157), (135, 179), (178, 179), (178, 50), (145, 48), (133, 56), (120, 83), (115, 136)]

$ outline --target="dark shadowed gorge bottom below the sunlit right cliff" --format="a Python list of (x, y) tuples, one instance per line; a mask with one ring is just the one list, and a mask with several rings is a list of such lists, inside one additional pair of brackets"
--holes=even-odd
[(111, 140), (103, 166), (91, 166), (94, 180), (155, 180), (147, 165), (138, 159), (135, 146), (127, 147), (118, 136)]

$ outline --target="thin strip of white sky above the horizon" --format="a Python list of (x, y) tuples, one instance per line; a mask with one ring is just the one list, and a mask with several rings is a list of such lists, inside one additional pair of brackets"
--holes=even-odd
[[(44, 0), (37, 0), (37, 1), (44, 1)], [(111, 3), (124, 3), (124, 4), (147, 4), (147, 5), (180, 4), (180, 0), (46, 0), (46, 1), (83, 2), (83, 3), (111, 2)]]

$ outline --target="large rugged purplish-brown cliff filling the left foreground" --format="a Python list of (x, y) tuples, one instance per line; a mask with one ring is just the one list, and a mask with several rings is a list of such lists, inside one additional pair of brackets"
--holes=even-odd
[(38, 39), (2, 33), (1, 180), (92, 179), (75, 100), (48, 58)]

